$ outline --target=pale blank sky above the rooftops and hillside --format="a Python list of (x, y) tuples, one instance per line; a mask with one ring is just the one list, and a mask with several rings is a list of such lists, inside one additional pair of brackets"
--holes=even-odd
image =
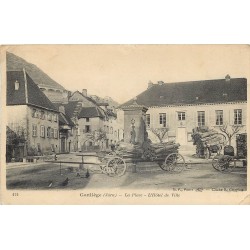
[(120, 104), (146, 90), (149, 81), (250, 76), (248, 45), (19, 45), (7, 50), (68, 90), (87, 89)]

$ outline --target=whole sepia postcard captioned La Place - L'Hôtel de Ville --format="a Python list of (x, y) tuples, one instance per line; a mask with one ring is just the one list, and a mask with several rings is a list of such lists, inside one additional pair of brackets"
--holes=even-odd
[(250, 204), (249, 45), (12, 45), (1, 204)]

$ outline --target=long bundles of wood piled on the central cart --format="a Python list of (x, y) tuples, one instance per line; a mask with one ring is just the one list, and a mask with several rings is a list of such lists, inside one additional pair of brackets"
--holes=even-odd
[(174, 142), (152, 144), (150, 141), (145, 141), (142, 145), (121, 142), (117, 152), (127, 159), (154, 161), (164, 159), (171, 153), (177, 153), (179, 146), (180, 144)]

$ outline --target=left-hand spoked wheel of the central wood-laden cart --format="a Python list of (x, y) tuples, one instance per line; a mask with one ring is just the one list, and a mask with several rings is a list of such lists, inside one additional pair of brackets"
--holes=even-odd
[(111, 158), (105, 168), (105, 172), (108, 176), (122, 176), (127, 169), (126, 162), (118, 156)]

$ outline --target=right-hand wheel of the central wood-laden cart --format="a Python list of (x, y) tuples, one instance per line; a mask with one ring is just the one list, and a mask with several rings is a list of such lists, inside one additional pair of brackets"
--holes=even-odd
[(172, 153), (168, 155), (161, 169), (169, 172), (181, 172), (185, 168), (185, 159), (181, 154)]

